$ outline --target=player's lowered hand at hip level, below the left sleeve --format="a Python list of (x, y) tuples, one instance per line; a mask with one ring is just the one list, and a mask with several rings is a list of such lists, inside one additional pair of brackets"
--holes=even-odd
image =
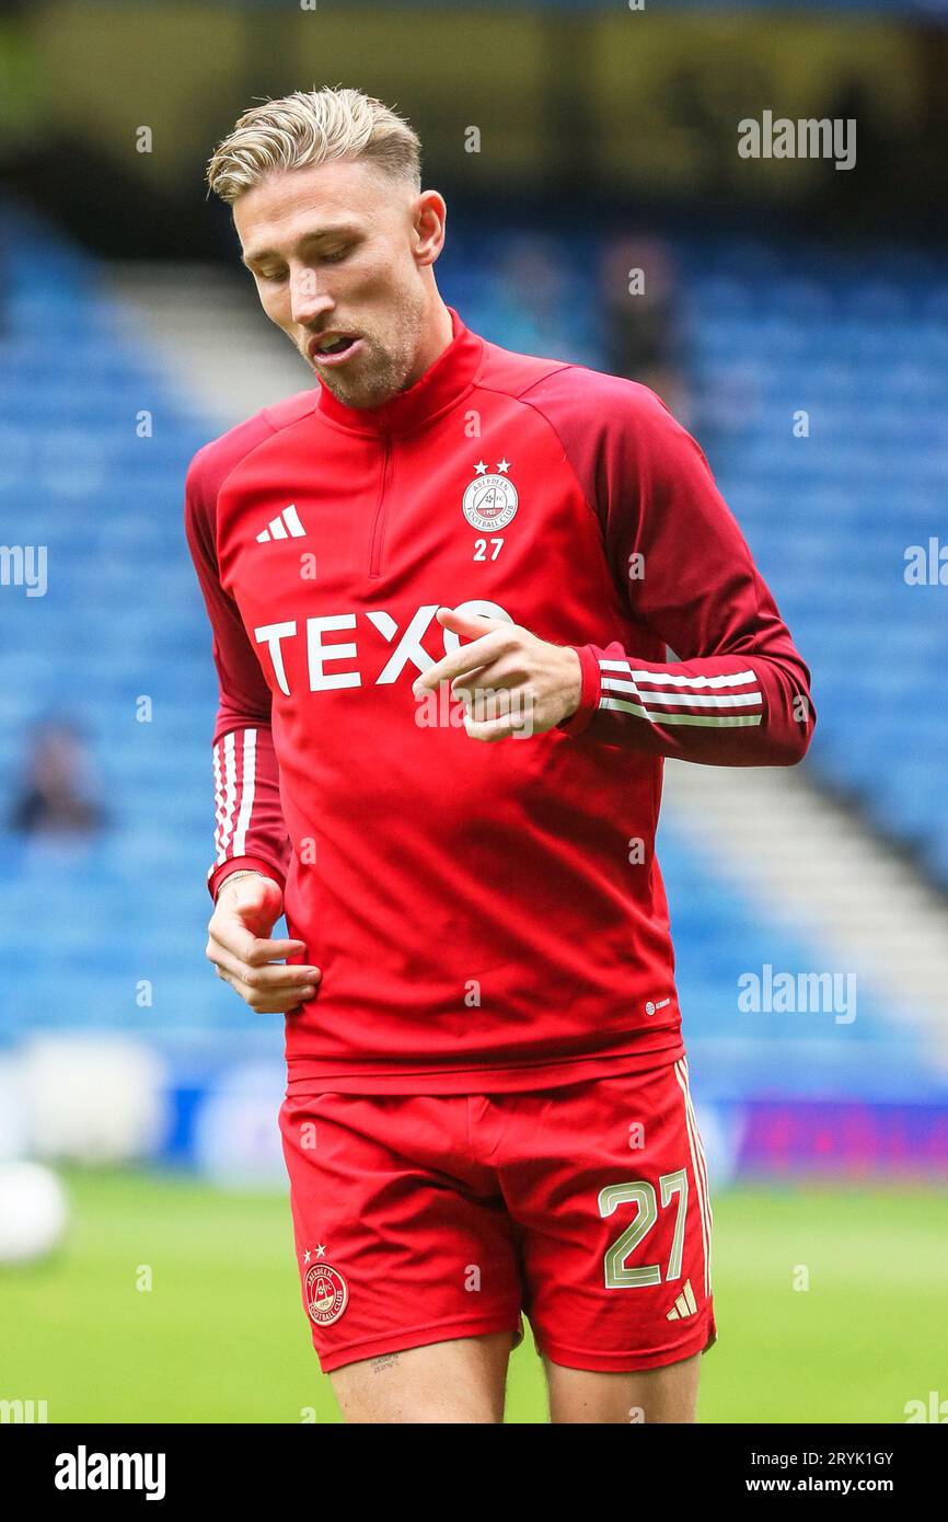
[(207, 927), (208, 962), (259, 1015), (295, 1009), (313, 997), (321, 977), (315, 966), (278, 960), (306, 951), (301, 941), (268, 939), (282, 913), (283, 893), (272, 878), (254, 874), (233, 884), (225, 878)]

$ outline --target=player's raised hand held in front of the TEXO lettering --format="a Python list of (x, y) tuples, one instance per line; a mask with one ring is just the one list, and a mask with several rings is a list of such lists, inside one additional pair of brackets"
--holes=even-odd
[(464, 702), (464, 729), (472, 740), (542, 735), (580, 706), (581, 668), (575, 650), (537, 639), (502, 618), (479, 618), (440, 607), (438, 622), (463, 639), (452, 654), (417, 679), (417, 699), (450, 682)]

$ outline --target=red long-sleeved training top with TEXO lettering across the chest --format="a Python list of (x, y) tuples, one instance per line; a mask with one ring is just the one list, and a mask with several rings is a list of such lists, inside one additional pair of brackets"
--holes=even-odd
[[(212, 889), (237, 848), (285, 874), (323, 971), (286, 1023), (315, 1090), (487, 1091), (487, 1068), (511, 1087), (543, 1064), (549, 1087), (670, 1055), (662, 758), (790, 764), (813, 729), (806, 667), (657, 397), (452, 323), (383, 406), (320, 385), (187, 479), (227, 773)], [(444, 604), (577, 648), (574, 721), (484, 744), (422, 711)]]

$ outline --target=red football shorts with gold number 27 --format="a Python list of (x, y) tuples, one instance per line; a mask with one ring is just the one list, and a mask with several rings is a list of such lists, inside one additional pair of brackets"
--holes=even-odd
[(303, 1304), (324, 1370), (487, 1332), (568, 1368), (715, 1341), (711, 1205), (682, 1058), (528, 1094), (286, 1099)]

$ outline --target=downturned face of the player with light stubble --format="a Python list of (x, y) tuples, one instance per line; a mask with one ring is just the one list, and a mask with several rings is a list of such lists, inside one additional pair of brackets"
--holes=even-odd
[(417, 379), (444, 231), (435, 190), (332, 160), (269, 175), (234, 202), (234, 224), (263, 310), (341, 402), (379, 406)]

